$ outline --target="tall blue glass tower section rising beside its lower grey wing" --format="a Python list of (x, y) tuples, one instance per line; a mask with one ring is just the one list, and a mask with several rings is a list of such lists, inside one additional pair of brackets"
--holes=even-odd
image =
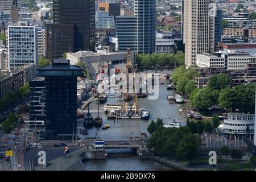
[(155, 52), (156, 0), (135, 0), (134, 15), (138, 22), (138, 52)]

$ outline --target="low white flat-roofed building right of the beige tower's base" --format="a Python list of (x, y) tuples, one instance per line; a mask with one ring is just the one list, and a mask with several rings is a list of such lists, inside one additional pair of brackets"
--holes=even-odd
[(247, 63), (256, 63), (256, 55), (247, 52), (213, 52), (197, 55), (196, 64), (203, 68), (225, 68), (244, 70)]

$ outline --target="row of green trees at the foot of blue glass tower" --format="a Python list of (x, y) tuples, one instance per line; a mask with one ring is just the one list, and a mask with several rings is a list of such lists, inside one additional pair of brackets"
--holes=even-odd
[(138, 54), (136, 56), (138, 66), (141, 68), (175, 68), (175, 65), (184, 64), (184, 53), (177, 51), (175, 55), (172, 54)]

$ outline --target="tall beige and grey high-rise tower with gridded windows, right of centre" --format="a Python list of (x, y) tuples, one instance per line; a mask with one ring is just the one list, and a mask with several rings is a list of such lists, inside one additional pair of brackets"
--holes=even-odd
[(184, 1), (185, 66), (196, 64), (200, 53), (214, 51), (215, 16), (210, 16), (210, 3), (214, 0)]

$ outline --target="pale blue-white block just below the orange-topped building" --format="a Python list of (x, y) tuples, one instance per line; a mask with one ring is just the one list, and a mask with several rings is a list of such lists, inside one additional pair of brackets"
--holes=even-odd
[(95, 28), (96, 29), (115, 28), (114, 16), (109, 15), (108, 11), (96, 11)]

